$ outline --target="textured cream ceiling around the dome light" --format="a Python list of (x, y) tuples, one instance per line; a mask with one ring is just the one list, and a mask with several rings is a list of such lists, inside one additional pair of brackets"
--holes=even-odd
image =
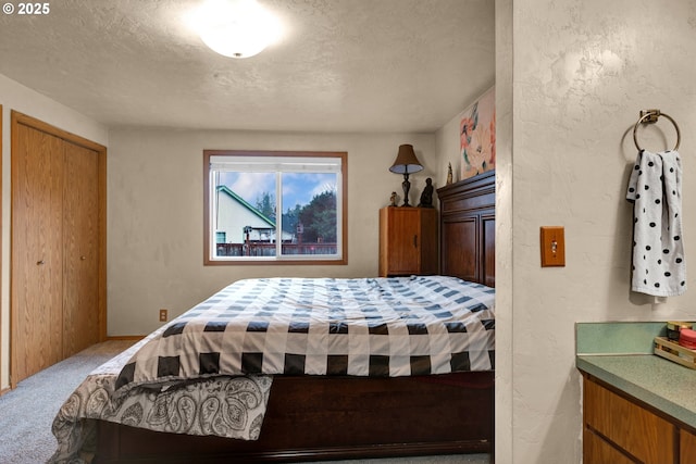
[(285, 36), (225, 58), (197, 0), (61, 0), (0, 15), (0, 74), (109, 126), (433, 131), (494, 83), (492, 0), (259, 0)]

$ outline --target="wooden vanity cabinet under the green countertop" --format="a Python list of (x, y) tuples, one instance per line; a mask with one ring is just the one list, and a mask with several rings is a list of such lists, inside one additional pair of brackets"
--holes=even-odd
[(693, 464), (696, 430), (583, 374), (583, 463)]

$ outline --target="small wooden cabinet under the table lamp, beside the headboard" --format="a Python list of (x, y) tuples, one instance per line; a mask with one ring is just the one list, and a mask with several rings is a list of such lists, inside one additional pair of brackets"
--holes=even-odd
[(380, 276), (437, 274), (437, 210), (380, 210)]

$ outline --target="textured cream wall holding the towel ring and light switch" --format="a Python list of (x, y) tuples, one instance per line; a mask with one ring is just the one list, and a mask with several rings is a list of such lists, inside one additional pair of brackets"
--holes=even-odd
[[(574, 323), (696, 319), (688, 296), (696, 291), (689, 253), (696, 250), (696, 2), (498, 0), (497, 7), (497, 28), (511, 26), (514, 45), (498, 32), (497, 75), (511, 75), (512, 83), (497, 81), (496, 91), (512, 91), (512, 101), (501, 104), (499, 96), (497, 110), (512, 110), (514, 136), (511, 154), (498, 151), (504, 166), (511, 165), (497, 172), (498, 185), (512, 183), (511, 192), (498, 190), (498, 217), (508, 214), (502, 201), (512, 205), (513, 224), (511, 251), (501, 255), (499, 241), (496, 263), (497, 272), (512, 263), (511, 275), (496, 276), (499, 294), (512, 297), (498, 305), (498, 326), (510, 331), (511, 344), (498, 346), (497, 355), (511, 360), (505, 366), (511, 381), (499, 383), (496, 397), (498, 409), (510, 403), (511, 438), (498, 429), (496, 461), (579, 463)], [(691, 290), (663, 302), (632, 294), (629, 286), (632, 130), (639, 110), (649, 108), (682, 129)], [(675, 141), (666, 118), (639, 134), (644, 148), (656, 151)], [(543, 225), (566, 227), (566, 267), (539, 266)], [(498, 229), (497, 237), (505, 234)], [(512, 326), (501, 327), (508, 319)]]

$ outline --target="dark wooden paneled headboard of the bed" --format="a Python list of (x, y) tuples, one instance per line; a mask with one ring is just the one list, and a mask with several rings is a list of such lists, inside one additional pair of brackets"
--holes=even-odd
[(440, 274), (496, 286), (495, 171), (437, 189)]

